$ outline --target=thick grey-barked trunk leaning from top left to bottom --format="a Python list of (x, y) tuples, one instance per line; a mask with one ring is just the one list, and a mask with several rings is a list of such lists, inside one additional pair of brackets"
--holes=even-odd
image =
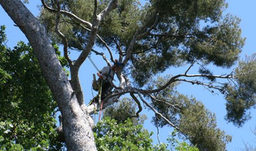
[(46, 36), (45, 28), (21, 1), (0, 0), (0, 4), (26, 35), (35, 51), (43, 75), (61, 110), (67, 149), (96, 150), (91, 129), (92, 119), (78, 104), (75, 92)]

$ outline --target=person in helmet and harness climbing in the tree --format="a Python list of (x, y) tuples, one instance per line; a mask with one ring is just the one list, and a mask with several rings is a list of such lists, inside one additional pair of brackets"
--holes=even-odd
[(104, 100), (104, 98), (112, 92), (114, 88), (112, 81), (114, 80), (115, 72), (121, 70), (122, 66), (122, 63), (116, 59), (112, 67), (105, 66), (97, 72), (99, 79), (93, 80), (92, 87), (94, 90), (98, 91), (99, 94), (94, 97), (88, 105), (91, 105), (93, 102), (99, 103), (99, 95), (101, 96), (101, 100)]

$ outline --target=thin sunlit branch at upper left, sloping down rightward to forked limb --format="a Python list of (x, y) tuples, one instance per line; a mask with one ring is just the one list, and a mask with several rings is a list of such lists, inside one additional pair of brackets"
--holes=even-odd
[[(58, 10), (57, 9), (53, 9), (49, 6), (47, 6), (47, 4), (45, 3), (45, 0), (41, 0), (42, 4), (43, 4), (43, 7), (45, 7), (48, 11), (50, 12), (53, 12), (53, 13), (58, 13)], [(88, 27), (92, 27), (92, 24), (90, 22), (87, 22), (87, 21), (84, 21), (83, 19), (77, 17), (75, 14), (73, 13), (70, 13), (70, 12), (67, 12), (67, 11), (64, 11), (62, 9), (60, 9), (60, 13), (62, 14), (65, 14), (66, 16), (70, 17), (70, 18), (73, 18), (75, 21), (81, 23), (81, 24), (84, 24)]]

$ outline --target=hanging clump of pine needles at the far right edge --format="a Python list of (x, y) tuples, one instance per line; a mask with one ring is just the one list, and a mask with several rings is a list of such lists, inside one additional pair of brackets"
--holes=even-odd
[(235, 69), (235, 85), (227, 85), (226, 119), (242, 126), (250, 119), (248, 109), (256, 104), (256, 54), (240, 61)]

